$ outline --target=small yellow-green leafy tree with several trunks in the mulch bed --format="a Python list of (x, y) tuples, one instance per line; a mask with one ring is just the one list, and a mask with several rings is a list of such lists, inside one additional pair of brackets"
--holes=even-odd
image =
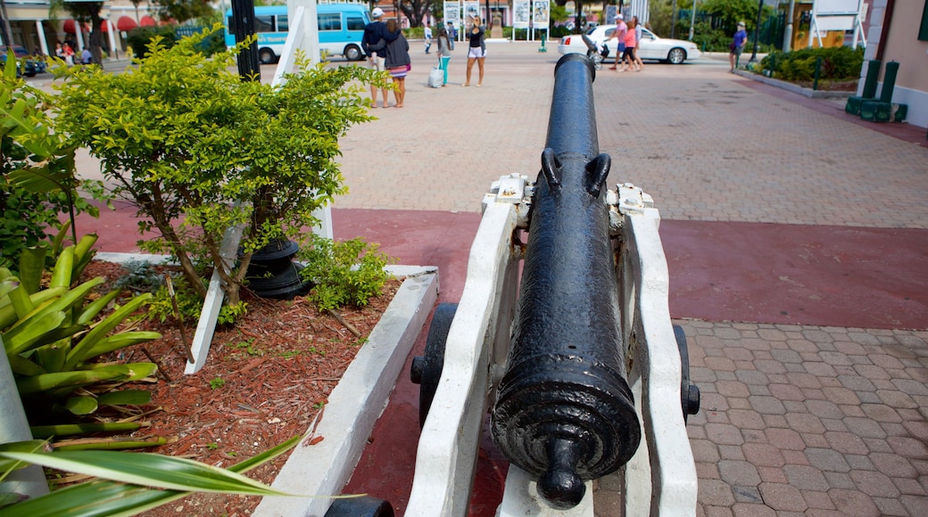
[[(168, 250), (201, 296), (195, 267), (212, 265), (230, 304), (251, 253), (272, 239), (303, 241), (312, 213), (343, 194), (335, 159), (338, 140), (371, 120), (360, 94), (382, 74), (322, 65), (287, 76), (281, 86), (242, 81), (235, 52), (206, 58), (196, 45), (211, 32), (165, 49), (148, 47), (137, 68), (110, 74), (96, 68), (59, 70), (57, 128), (100, 158), (116, 195), (138, 208), (141, 243)], [(228, 267), (220, 246), (228, 228), (243, 228), (242, 255)]]

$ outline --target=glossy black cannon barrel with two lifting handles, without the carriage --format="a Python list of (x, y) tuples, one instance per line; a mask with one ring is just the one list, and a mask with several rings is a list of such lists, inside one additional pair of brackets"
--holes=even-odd
[(538, 476), (554, 508), (584, 482), (618, 470), (641, 439), (625, 344), (599, 154), (595, 69), (584, 56), (555, 68), (548, 139), (535, 182), (518, 315), (491, 414), (496, 447)]

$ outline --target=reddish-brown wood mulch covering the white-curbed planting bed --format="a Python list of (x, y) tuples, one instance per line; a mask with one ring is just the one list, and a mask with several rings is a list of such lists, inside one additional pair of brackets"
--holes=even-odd
[[(123, 274), (122, 266), (101, 261), (84, 271), (86, 278), (103, 276), (110, 282)], [(216, 328), (206, 365), (195, 375), (184, 375), (187, 357), (176, 322), (141, 322), (138, 330), (163, 337), (123, 349), (117, 358), (146, 362), (147, 351), (159, 363), (158, 381), (142, 386), (152, 392), (151, 407), (143, 408), (151, 411), (145, 416), (148, 426), (132, 437), (163, 436), (167, 445), (146, 451), (227, 467), (303, 435), (400, 284), (388, 282), (367, 307), (340, 310), (361, 338), (303, 297), (268, 300), (246, 293), (248, 313), (234, 325)], [(189, 339), (196, 323), (187, 322)], [(269, 485), (288, 456), (246, 475)], [(195, 494), (144, 515), (250, 515), (259, 502)]]

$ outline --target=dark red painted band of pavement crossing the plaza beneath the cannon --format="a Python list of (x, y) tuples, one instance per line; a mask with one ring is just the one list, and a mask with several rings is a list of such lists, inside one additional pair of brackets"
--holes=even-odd
[[(338, 209), (337, 238), (380, 243), (397, 263), (439, 268), (440, 300), (458, 301), (476, 213)], [(135, 251), (132, 210), (82, 217), (101, 251)], [(928, 328), (928, 231), (662, 221), (674, 318), (866, 328)], [(424, 334), (412, 355), (421, 354)], [(403, 514), (419, 439), (419, 387), (406, 369), (371, 435), (346, 493), (389, 500)], [(506, 461), (484, 440), (471, 515), (494, 515)], [(465, 480), (461, 481), (466, 483)]]

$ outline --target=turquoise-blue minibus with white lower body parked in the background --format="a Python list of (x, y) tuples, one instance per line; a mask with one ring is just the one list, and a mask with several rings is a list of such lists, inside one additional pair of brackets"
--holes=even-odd
[[(364, 4), (319, 4), (319, 50), (327, 56), (343, 56), (349, 61), (364, 59), (361, 40), (364, 26), (370, 22)], [(235, 45), (232, 9), (226, 11), (226, 46)], [(290, 21), (287, 6), (255, 6), (254, 26), (258, 35), (258, 59), (262, 64), (276, 63), (287, 42)]]

